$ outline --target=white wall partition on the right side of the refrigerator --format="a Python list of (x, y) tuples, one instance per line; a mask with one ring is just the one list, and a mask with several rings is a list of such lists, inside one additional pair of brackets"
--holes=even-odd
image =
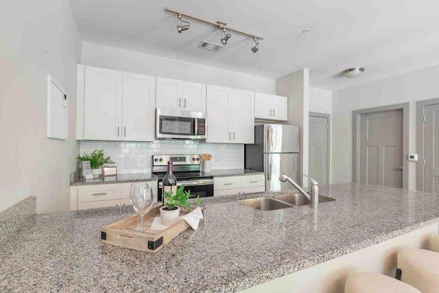
[[(300, 126), (300, 168), (298, 174), (308, 174), (309, 144), (309, 69), (301, 69), (276, 80), (276, 94), (288, 97), (288, 121), (286, 124)], [(299, 176), (302, 187), (307, 180)]]

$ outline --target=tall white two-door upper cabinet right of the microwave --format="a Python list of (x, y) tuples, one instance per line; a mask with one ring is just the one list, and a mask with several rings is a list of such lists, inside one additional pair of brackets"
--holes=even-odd
[(254, 93), (207, 86), (208, 143), (254, 143)]

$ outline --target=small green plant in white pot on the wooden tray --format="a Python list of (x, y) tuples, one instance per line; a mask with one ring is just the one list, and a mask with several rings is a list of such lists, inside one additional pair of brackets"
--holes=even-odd
[[(160, 208), (160, 218), (164, 226), (171, 226), (178, 220), (180, 207), (191, 207), (189, 197), (191, 191), (185, 191), (185, 185), (177, 188), (176, 194), (171, 190), (163, 191), (163, 207)], [(200, 197), (197, 198), (197, 204), (200, 204)]]

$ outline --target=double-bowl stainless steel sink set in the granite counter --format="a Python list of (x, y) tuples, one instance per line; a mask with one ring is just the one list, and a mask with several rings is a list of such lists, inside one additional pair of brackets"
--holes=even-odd
[[(330, 202), (333, 198), (328, 198), (325, 196), (319, 196), (318, 202)], [(288, 209), (290, 207), (299, 207), (302, 205), (309, 204), (309, 199), (307, 199), (303, 194), (281, 194), (279, 196), (273, 196), (272, 198), (250, 198), (248, 200), (238, 200), (248, 207), (253, 209), (259, 209), (260, 211), (274, 211), (276, 209)]]

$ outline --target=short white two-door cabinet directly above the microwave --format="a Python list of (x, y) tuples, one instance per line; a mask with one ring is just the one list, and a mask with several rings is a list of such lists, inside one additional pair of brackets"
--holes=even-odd
[(206, 84), (157, 78), (156, 107), (206, 112)]

